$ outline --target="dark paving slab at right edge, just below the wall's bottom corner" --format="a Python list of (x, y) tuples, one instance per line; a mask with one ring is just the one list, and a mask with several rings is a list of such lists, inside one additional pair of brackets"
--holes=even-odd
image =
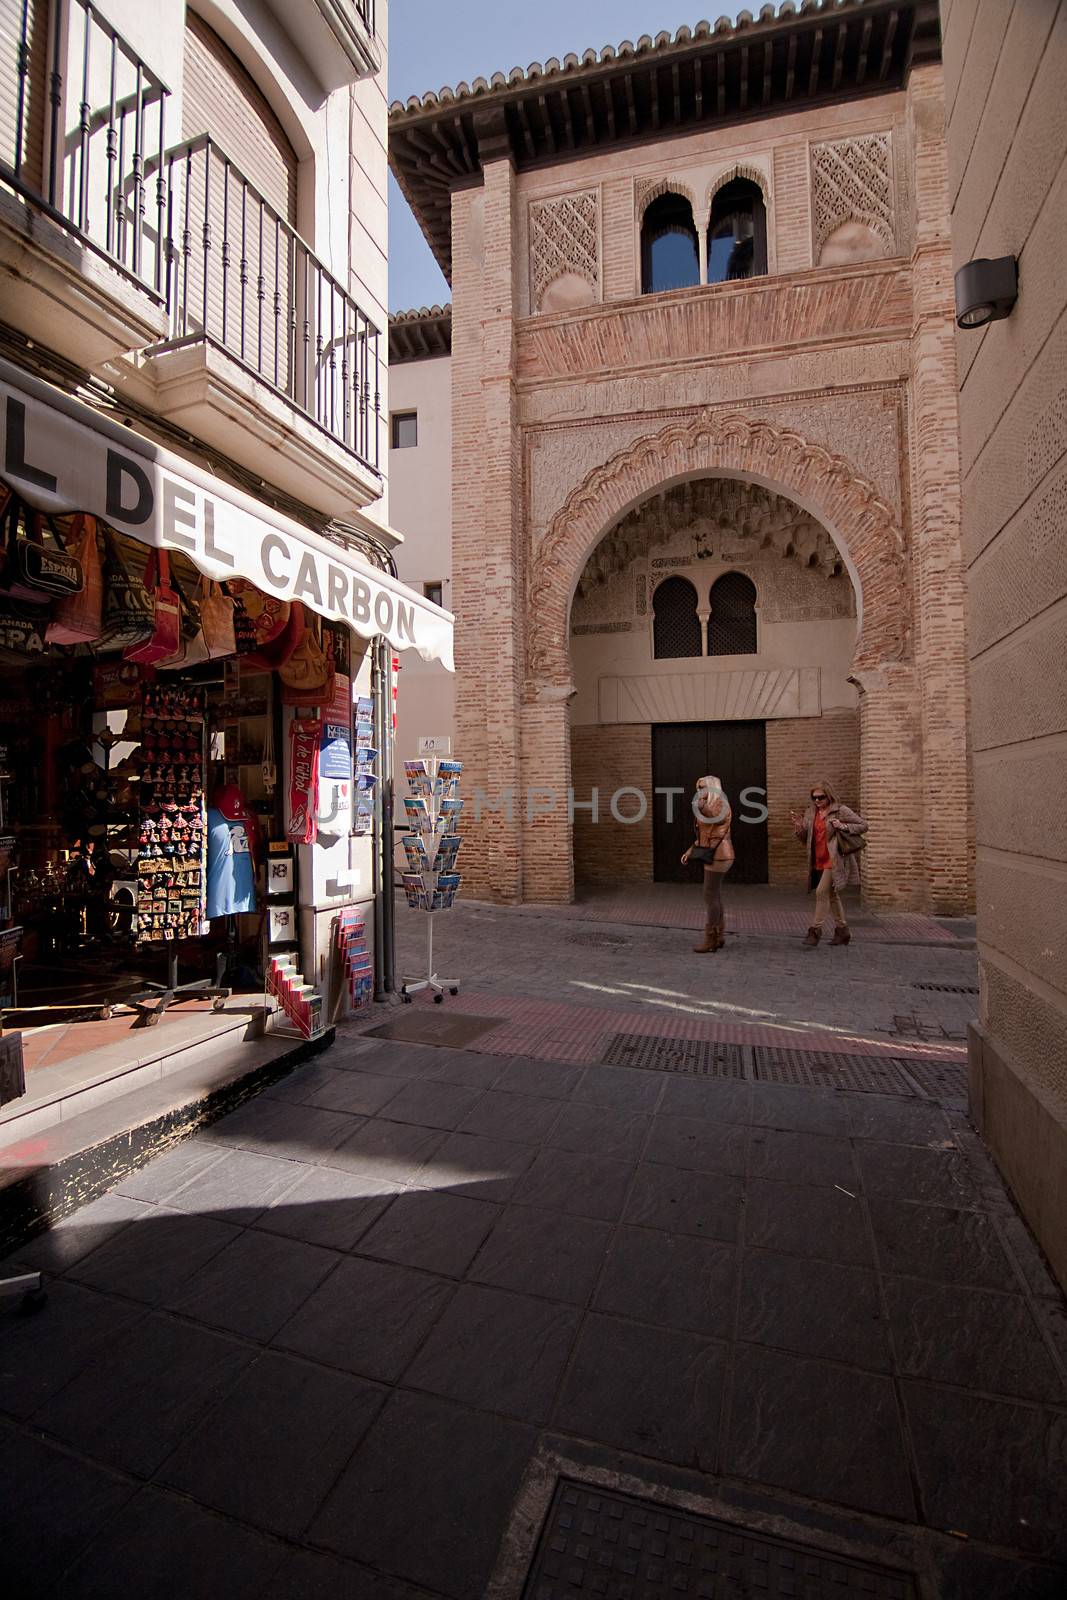
[(1067, 1403), (1062, 1379), (1019, 1296), (893, 1277), (885, 1280), (885, 1293), (899, 1371), (963, 1389)]

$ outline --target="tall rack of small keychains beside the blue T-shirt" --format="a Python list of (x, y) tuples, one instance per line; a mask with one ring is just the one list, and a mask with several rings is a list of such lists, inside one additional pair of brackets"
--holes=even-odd
[(208, 931), (203, 714), (203, 690), (144, 686), (138, 750), (138, 944), (200, 938)]

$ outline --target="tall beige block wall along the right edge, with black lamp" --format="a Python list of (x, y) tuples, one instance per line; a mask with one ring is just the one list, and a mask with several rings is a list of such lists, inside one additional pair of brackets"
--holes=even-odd
[(957, 333), (977, 822), (973, 1110), (1067, 1283), (1067, 6), (942, 3), (952, 251), (1013, 254)]

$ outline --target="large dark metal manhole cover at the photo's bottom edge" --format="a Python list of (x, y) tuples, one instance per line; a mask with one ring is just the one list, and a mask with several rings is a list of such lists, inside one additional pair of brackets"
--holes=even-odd
[(523, 1600), (917, 1600), (910, 1573), (561, 1478)]

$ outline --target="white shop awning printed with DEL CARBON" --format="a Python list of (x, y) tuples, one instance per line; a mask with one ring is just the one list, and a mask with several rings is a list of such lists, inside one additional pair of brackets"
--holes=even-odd
[(290, 517), (0, 360), (3, 478), (38, 510), (85, 510), (142, 544), (182, 550), (208, 578), (384, 635), (453, 670), (453, 618)]

